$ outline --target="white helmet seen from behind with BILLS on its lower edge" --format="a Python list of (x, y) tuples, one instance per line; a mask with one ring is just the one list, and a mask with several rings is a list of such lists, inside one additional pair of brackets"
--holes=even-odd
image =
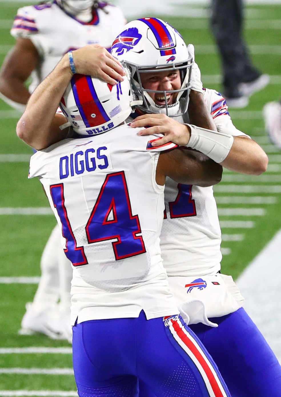
[(97, 135), (122, 123), (132, 112), (130, 74), (117, 85), (75, 74), (59, 104), (74, 131), (80, 135)]

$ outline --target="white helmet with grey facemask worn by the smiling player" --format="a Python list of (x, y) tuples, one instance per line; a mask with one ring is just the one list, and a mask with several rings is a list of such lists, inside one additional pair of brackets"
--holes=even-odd
[[(131, 21), (113, 41), (111, 54), (129, 67), (132, 90), (143, 100), (142, 106), (138, 106), (141, 110), (166, 113), (171, 117), (181, 116), (187, 111), (193, 57), (176, 29), (158, 18)], [(179, 69), (182, 83), (179, 90), (153, 91), (143, 88), (140, 73), (167, 69)], [(164, 94), (165, 105), (156, 105), (149, 92)], [(168, 105), (167, 93), (178, 93), (176, 103)]]

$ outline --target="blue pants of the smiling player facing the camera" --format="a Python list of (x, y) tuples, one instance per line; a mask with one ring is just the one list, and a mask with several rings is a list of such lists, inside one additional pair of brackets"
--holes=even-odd
[[(231, 397), (280, 397), (281, 366), (245, 310), (210, 320), (218, 328), (189, 327), (216, 362)], [(141, 381), (140, 397), (155, 397)]]

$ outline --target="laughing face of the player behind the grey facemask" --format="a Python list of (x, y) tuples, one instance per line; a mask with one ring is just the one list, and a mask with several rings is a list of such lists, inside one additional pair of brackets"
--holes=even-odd
[[(180, 79), (180, 71), (167, 70), (162, 72), (148, 72), (141, 73), (141, 84), (143, 89), (153, 91), (173, 91), (179, 90), (182, 83)], [(156, 105), (165, 106), (165, 97), (161, 93), (148, 93)], [(172, 105), (176, 102), (178, 93), (166, 93), (168, 105)]]

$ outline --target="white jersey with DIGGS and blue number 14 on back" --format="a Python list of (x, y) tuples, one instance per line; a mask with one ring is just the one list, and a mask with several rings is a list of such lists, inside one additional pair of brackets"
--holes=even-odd
[(29, 177), (40, 178), (73, 264), (72, 324), (178, 313), (162, 265), (164, 186), (155, 173), (155, 137), (121, 125), (65, 139), (36, 152)]

